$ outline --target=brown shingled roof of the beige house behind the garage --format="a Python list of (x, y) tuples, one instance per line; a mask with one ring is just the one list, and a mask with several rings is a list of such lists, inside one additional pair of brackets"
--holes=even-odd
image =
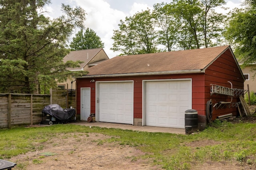
[(88, 64), (101, 50), (103, 49), (70, 51), (70, 53), (63, 58), (63, 61), (64, 63), (66, 63), (66, 61), (83, 61), (84, 63), (80, 64), (79, 67), (68, 68), (68, 70), (83, 70), (84, 66), (86, 66), (86, 64)]

